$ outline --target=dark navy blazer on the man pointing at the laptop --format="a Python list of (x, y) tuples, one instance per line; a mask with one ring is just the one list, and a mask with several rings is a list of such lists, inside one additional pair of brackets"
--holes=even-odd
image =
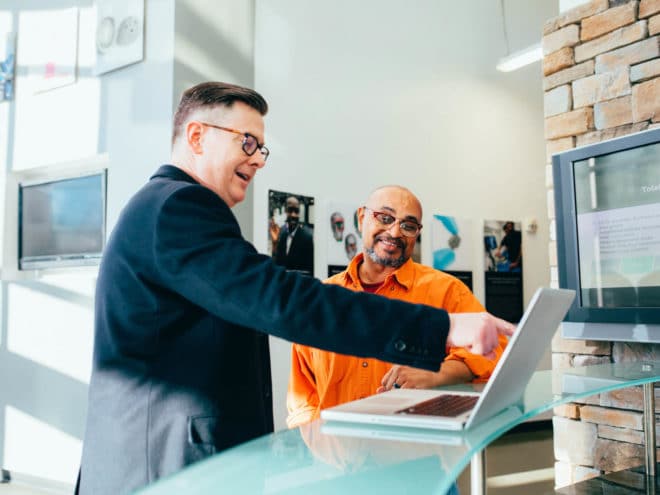
[(443, 311), (287, 272), (222, 199), (165, 165), (99, 269), (80, 493), (128, 493), (271, 432), (267, 333), (437, 370), (448, 326)]

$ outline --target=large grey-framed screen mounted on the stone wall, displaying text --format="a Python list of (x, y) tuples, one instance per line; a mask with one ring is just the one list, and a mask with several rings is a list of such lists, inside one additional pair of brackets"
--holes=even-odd
[(660, 129), (552, 161), (563, 336), (660, 342)]

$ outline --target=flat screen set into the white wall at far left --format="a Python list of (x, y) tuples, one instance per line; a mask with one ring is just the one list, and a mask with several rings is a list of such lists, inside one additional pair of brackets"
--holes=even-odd
[(21, 182), (20, 270), (96, 265), (105, 245), (106, 171)]

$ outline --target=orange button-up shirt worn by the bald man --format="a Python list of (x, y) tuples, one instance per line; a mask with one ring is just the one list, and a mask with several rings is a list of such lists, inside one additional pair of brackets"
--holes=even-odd
[[(358, 276), (363, 258), (362, 253), (355, 256), (346, 271), (330, 277), (326, 283), (355, 291), (363, 290)], [(460, 280), (411, 259), (390, 274), (376, 294), (427, 304), (449, 313), (484, 311), (481, 303)], [(506, 338), (501, 336), (495, 350), (498, 359), (506, 342)], [(347, 356), (299, 344), (293, 345), (291, 358), (287, 392), (287, 424), (290, 428), (318, 418), (322, 409), (376, 393), (381, 379), (392, 367), (391, 363), (378, 359)], [(449, 348), (445, 360), (449, 359), (464, 362), (475, 375), (474, 381), (488, 380), (497, 362), (472, 354), (462, 347)]]

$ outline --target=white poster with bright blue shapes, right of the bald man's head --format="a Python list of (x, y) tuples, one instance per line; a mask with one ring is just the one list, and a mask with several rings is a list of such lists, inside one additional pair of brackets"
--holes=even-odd
[(449, 215), (431, 219), (433, 268), (460, 279), (473, 288), (474, 235), (472, 220)]

